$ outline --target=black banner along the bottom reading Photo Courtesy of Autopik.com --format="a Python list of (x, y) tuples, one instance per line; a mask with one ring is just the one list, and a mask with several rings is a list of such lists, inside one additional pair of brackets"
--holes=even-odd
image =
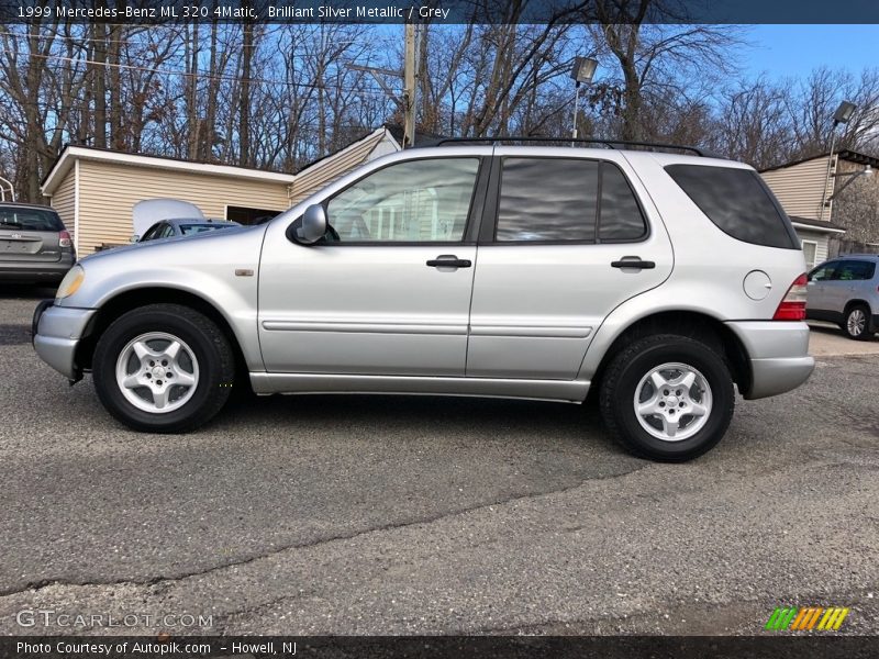
[(0, 657), (110, 659), (164, 657), (278, 659), (874, 659), (879, 636), (11, 636)]

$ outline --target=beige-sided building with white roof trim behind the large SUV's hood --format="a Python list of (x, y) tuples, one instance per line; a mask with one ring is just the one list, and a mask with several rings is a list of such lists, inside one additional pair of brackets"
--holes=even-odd
[(132, 209), (179, 199), (205, 217), (251, 224), (286, 211), (358, 165), (400, 149), (382, 126), (296, 174), (68, 145), (43, 180), (43, 194), (74, 237), (77, 254), (131, 239)]

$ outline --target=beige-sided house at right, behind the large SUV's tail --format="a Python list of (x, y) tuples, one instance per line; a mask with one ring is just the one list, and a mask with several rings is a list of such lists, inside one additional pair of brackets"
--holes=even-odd
[[(870, 188), (879, 194), (879, 183), (876, 177), (849, 180), (868, 167), (879, 167), (879, 158), (843, 149), (760, 172), (790, 215), (810, 267), (841, 253), (872, 250), (871, 242), (879, 242), (870, 219), (855, 212), (854, 204), (865, 194), (870, 197)], [(867, 212), (877, 212), (876, 203), (868, 205)]]

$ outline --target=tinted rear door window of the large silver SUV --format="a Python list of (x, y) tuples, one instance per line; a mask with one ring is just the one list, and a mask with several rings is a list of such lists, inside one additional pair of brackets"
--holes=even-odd
[(646, 233), (634, 192), (612, 163), (503, 159), (498, 242), (624, 243)]

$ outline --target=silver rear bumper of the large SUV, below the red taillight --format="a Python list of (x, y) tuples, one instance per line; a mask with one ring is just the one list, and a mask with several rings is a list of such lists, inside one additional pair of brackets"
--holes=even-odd
[(726, 325), (745, 347), (750, 361), (747, 400), (797, 389), (815, 369), (809, 355), (809, 325), (786, 321), (734, 321)]

